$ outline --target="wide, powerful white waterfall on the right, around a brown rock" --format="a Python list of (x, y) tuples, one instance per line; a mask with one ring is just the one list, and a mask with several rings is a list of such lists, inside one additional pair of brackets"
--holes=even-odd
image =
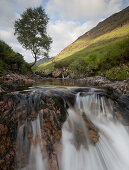
[[(83, 114), (96, 126), (93, 145)], [(62, 129), (62, 170), (129, 170), (129, 135), (115, 118), (113, 102), (97, 94), (78, 93)]]

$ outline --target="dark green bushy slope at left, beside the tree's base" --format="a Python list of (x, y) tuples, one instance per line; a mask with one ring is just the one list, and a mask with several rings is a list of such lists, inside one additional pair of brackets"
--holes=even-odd
[(30, 66), (25, 62), (23, 56), (16, 53), (5, 42), (0, 41), (0, 74), (16, 72), (26, 74), (30, 71)]

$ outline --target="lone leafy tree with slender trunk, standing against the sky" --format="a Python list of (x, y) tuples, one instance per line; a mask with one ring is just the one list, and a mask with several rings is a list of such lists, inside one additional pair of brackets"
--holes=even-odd
[(15, 21), (15, 33), (19, 43), (26, 50), (30, 50), (35, 59), (41, 56), (48, 57), (50, 44), (52, 43), (51, 37), (47, 35), (47, 24), (49, 18), (42, 7), (28, 8), (21, 15), (21, 18)]

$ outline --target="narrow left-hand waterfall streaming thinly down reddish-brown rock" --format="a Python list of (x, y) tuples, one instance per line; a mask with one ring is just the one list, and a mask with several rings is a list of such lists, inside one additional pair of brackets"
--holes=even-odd
[[(24, 134), (23, 134), (24, 133)], [(28, 141), (28, 136), (30, 141)], [(36, 120), (25, 122), (24, 125), (19, 125), (18, 130), (18, 153), (17, 157), (20, 158), (18, 169), (21, 170), (46, 170), (47, 158), (43, 159), (42, 140), (41, 140), (41, 127), (39, 116)], [(26, 160), (23, 157), (24, 152), (28, 152)], [(25, 162), (27, 167), (22, 168)]]

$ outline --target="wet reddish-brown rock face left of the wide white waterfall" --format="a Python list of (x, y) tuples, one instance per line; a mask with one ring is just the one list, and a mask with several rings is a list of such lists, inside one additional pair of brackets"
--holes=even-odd
[[(59, 100), (59, 101), (58, 101)], [(29, 104), (28, 104), (29, 103)], [(61, 104), (61, 106), (60, 106)], [(13, 95), (7, 94), (0, 98), (0, 169), (16, 169), (16, 145), (18, 122), (22, 122), (23, 134), (25, 133), (26, 123), (37, 119), (37, 116), (43, 117), (41, 137), (43, 140), (43, 152), (46, 148), (50, 169), (57, 168), (55, 150), (61, 140), (61, 129), (66, 119), (66, 108), (63, 100), (52, 99), (45, 94), (27, 94)], [(36, 145), (38, 138), (32, 140), (31, 131), (28, 132), (29, 145), (33, 142)], [(24, 147), (24, 146), (23, 146)], [(22, 162), (20, 162), (22, 160)], [(23, 152), (17, 165), (24, 168), (27, 163), (27, 155)]]

